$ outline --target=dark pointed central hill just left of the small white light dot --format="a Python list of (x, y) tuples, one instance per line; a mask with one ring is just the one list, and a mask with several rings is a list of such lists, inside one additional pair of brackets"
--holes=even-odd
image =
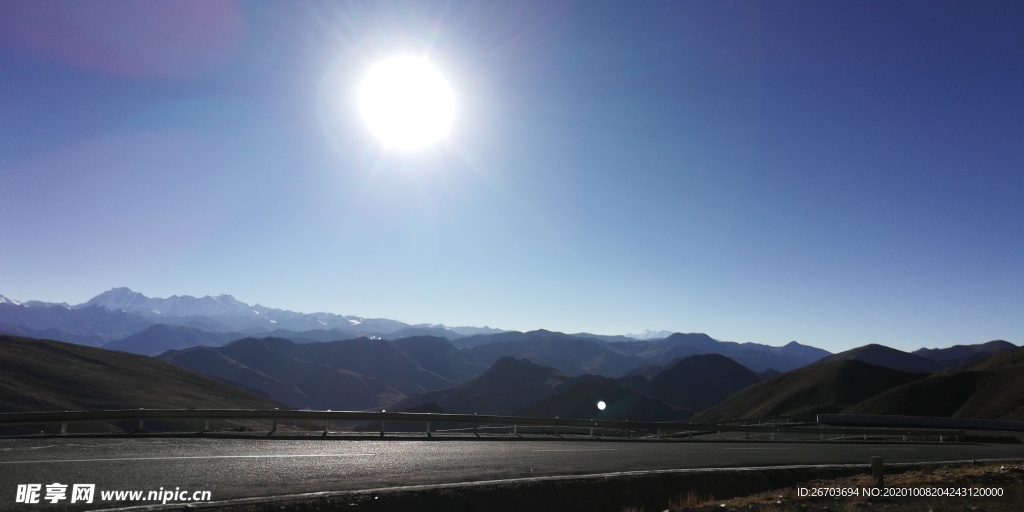
[(472, 380), (412, 396), (393, 409), (401, 411), (433, 402), (445, 413), (512, 415), (564, 390), (571, 380), (551, 367), (503, 357)]

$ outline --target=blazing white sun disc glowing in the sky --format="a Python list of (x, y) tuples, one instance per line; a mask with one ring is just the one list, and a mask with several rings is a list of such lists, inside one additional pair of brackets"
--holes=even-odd
[(455, 94), (426, 57), (397, 56), (370, 68), (358, 89), (359, 112), (388, 148), (416, 151), (449, 135)]

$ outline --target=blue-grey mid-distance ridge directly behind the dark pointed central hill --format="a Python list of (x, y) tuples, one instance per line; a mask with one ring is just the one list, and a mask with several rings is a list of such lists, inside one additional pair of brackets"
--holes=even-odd
[[(627, 354), (607, 343), (551, 331), (502, 333), (492, 337), (502, 341), (470, 346), (463, 350), (470, 358), (484, 365), (492, 365), (502, 357), (527, 358), (568, 375), (617, 377), (644, 364), (643, 358)], [(459, 346), (466, 339), (469, 338), (455, 340), (454, 344)]]

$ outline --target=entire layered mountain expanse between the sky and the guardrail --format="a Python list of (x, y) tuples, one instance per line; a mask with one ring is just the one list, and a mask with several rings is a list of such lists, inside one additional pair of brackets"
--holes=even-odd
[[(181, 372), (166, 393), (191, 396), (185, 381), (213, 378), (209, 382), (241, 393), (239, 400), (245, 395), (295, 409), (709, 422), (841, 412), (1024, 416), (1024, 391), (1018, 391), (1024, 355), (1002, 340), (913, 353), (868, 344), (831, 354), (797, 342), (737, 343), (702, 333), (635, 339), (412, 326), (249, 306), (229, 295), (153, 299), (128, 289), (77, 306), (0, 296), (0, 334), (19, 337), (3, 338), (19, 347), (19, 362), (0, 357), (4, 377), (15, 376), (5, 391), (23, 397), (0, 407), (16, 410), (34, 401), (37, 408), (125, 403), (113, 391), (82, 399), (90, 379), (111, 386), (90, 362), (99, 359), (76, 351), (96, 350), (121, 354), (111, 356), (123, 370), (113, 375), (126, 386), (135, 386), (137, 377), (130, 376), (144, 373), (155, 357), (161, 368)], [(105, 350), (40, 341), (26, 351), (28, 337)], [(24, 355), (30, 352), (38, 360)], [(69, 387), (59, 376), (70, 374), (86, 377)], [(19, 379), (31, 384), (16, 387)], [(608, 407), (597, 410), (598, 400)]]

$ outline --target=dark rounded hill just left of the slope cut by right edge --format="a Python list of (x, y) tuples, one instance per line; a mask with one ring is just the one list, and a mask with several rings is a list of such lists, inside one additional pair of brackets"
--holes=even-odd
[(696, 415), (693, 421), (836, 413), (926, 376), (856, 359), (821, 362), (746, 387)]

